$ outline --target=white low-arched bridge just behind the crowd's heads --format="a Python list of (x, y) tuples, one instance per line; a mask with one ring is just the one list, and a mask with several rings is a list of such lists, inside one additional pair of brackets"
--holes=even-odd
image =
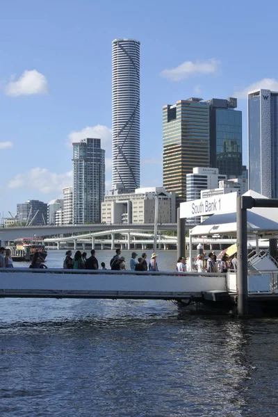
[[(121, 234), (124, 238), (115, 238), (115, 234)], [(101, 238), (101, 236), (109, 236), (111, 239)], [(177, 246), (177, 236), (166, 236), (158, 234), (157, 236), (157, 245), (158, 249), (166, 250), (170, 245)], [(77, 249), (78, 244), (83, 245), (83, 250), (85, 250), (85, 245), (90, 244), (92, 249), (95, 249), (95, 245), (101, 245), (101, 249), (104, 249), (104, 246), (109, 245), (111, 250), (115, 249), (115, 245), (120, 245), (121, 249), (130, 250), (131, 246), (134, 249), (146, 250), (147, 245), (154, 245), (154, 234), (143, 233), (142, 231), (132, 230), (132, 229), (111, 229), (106, 231), (97, 231), (88, 234), (81, 234), (75, 236), (67, 236), (63, 238), (46, 238), (44, 243), (51, 244), (55, 243), (57, 249), (61, 249), (61, 245), (73, 244), (74, 250)], [(198, 243), (209, 243), (211, 245), (232, 245), (236, 243), (236, 239), (220, 239), (220, 238), (193, 238), (193, 244), (198, 245)], [(189, 245), (189, 242), (188, 242)], [(51, 246), (49, 246), (51, 247)]]

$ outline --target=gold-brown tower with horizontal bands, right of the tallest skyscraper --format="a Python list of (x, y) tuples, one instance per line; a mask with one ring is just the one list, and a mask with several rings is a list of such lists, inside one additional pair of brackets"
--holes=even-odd
[(209, 167), (209, 106), (202, 99), (163, 106), (163, 187), (186, 201), (186, 174)]

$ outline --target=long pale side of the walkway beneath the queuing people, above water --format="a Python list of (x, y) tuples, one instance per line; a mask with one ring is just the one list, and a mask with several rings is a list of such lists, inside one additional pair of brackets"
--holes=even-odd
[(183, 300), (226, 291), (226, 274), (197, 272), (0, 270), (0, 297)]

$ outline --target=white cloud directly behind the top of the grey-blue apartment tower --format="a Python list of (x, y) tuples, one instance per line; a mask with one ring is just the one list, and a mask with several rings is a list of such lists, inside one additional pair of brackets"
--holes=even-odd
[(97, 124), (96, 126), (86, 126), (81, 131), (72, 131), (68, 136), (68, 145), (72, 145), (72, 142), (80, 142), (85, 138), (99, 138), (101, 139), (101, 148), (111, 153), (112, 143), (112, 129), (109, 129), (103, 124)]

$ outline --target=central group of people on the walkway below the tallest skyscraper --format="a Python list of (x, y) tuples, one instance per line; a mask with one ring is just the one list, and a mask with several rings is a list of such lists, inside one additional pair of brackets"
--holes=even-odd
[[(98, 270), (99, 269), (99, 262), (96, 258), (96, 251), (95, 249), (91, 250), (91, 256), (87, 258), (87, 253), (81, 253), (80, 250), (77, 250), (72, 256), (72, 251), (67, 250), (65, 253), (65, 260), (63, 263), (64, 269), (74, 269), (74, 270)], [(131, 259), (129, 261), (129, 268), (126, 268), (126, 260), (124, 256), (122, 256), (122, 252), (120, 249), (116, 250), (116, 254), (110, 261), (110, 268), (111, 270), (119, 271), (119, 270), (126, 270), (130, 269), (131, 271), (158, 271), (158, 263), (156, 261), (157, 254), (153, 253), (151, 259), (149, 260), (149, 265), (147, 264), (147, 254), (144, 252), (140, 258), (136, 252), (132, 252)], [(106, 264), (101, 262), (101, 270), (107, 270)], [(109, 269), (110, 269), (109, 268)]]

